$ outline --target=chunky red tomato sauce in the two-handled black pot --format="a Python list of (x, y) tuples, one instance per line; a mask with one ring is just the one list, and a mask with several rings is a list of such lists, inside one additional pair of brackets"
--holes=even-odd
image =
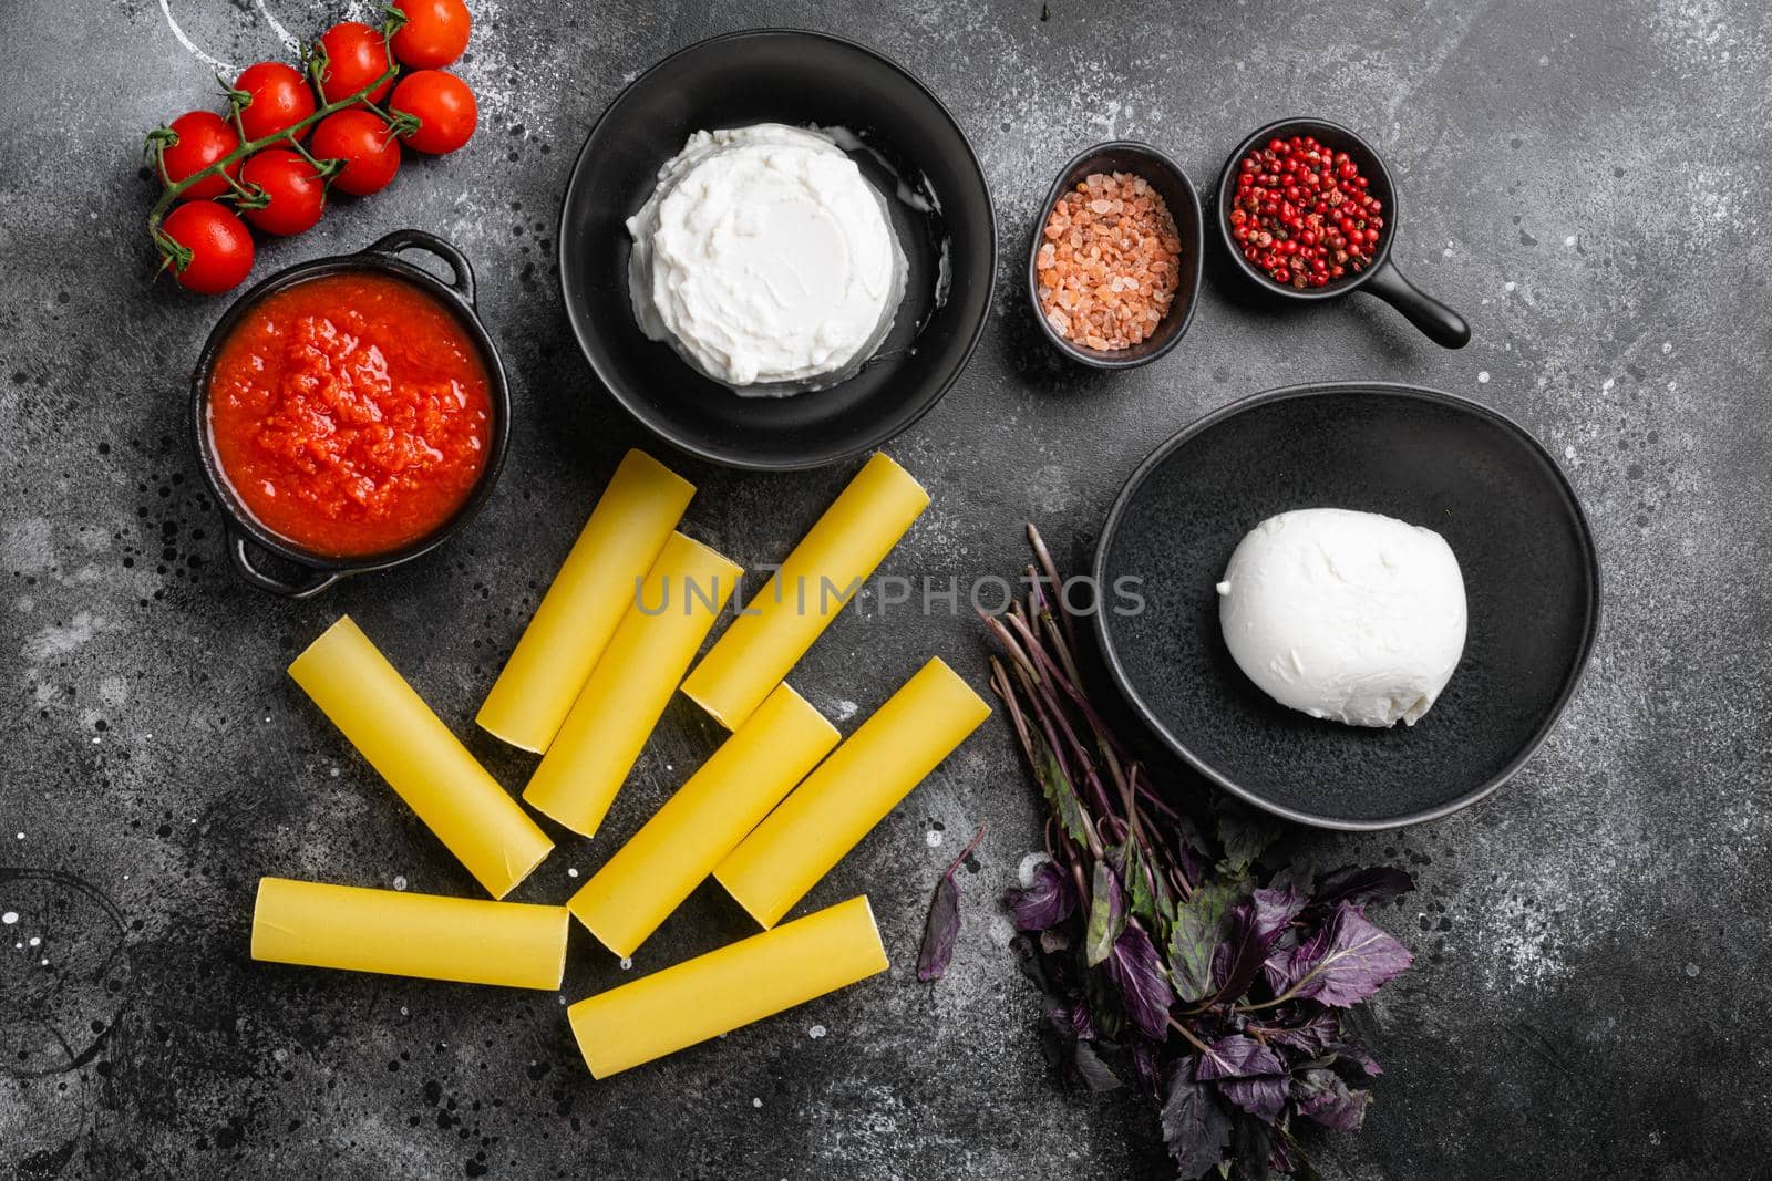
[(266, 297), (209, 388), (229, 485), (314, 554), (379, 554), (447, 522), (491, 439), (486, 367), (448, 308), (386, 274), (330, 274)]

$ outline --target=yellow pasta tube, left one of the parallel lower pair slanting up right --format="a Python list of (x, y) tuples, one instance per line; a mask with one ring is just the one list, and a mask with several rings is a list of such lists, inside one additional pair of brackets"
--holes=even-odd
[(567, 908), (604, 947), (634, 954), (835, 745), (836, 728), (783, 682)]

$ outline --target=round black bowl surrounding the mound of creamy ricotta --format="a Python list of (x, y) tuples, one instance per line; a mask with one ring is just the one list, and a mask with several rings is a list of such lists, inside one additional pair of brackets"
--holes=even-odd
[[(626, 221), (650, 197), (659, 165), (695, 131), (757, 122), (859, 135), (868, 151), (851, 158), (890, 198), (911, 262), (874, 359), (838, 386), (789, 398), (746, 398), (709, 381), (641, 335), (627, 297)], [(900, 181), (937, 207), (893, 200)], [(730, 34), (649, 69), (585, 140), (560, 211), (560, 292), (592, 370), (659, 436), (732, 467), (817, 467), (914, 423), (971, 358), (994, 273), (991, 191), (959, 124), (900, 66), (826, 34)]]

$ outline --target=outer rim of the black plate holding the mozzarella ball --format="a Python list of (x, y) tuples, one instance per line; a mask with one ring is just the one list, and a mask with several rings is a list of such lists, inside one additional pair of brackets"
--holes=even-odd
[(1455, 393), (1446, 393), (1442, 390), (1434, 390), (1430, 386), (1416, 386), (1409, 382), (1327, 381), (1327, 382), (1304, 382), (1297, 386), (1283, 386), (1278, 390), (1263, 390), (1262, 393), (1253, 393), (1246, 398), (1239, 398), (1228, 405), (1210, 411), (1196, 418), (1194, 421), (1187, 423), (1178, 432), (1170, 436), (1166, 441), (1157, 444), (1157, 448), (1148, 457), (1145, 457), (1143, 462), (1139, 462), (1139, 466), (1127, 478), (1125, 487), (1122, 487), (1120, 494), (1115, 498), (1113, 508), (1108, 510), (1108, 519), (1102, 524), (1100, 536), (1095, 542), (1095, 558), (1090, 565), (1090, 574), (1095, 577), (1097, 586), (1106, 584), (1108, 551), (1111, 549), (1113, 540), (1120, 531), (1122, 517), (1125, 515), (1132, 498), (1143, 487), (1150, 473), (1155, 471), (1157, 466), (1162, 464), (1180, 446), (1184, 446), (1196, 436), (1205, 434), (1212, 427), (1217, 427), (1219, 423), (1251, 409), (1272, 405), (1276, 402), (1290, 402), (1297, 398), (1331, 397), (1347, 393), (1379, 393), (1384, 397), (1432, 402), (1467, 414), (1476, 414), (1478, 418), (1485, 418), (1490, 423), (1499, 425), (1503, 430), (1520, 439), (1527, 446), (1527, 450), (1535, 452), (1543, 460), (1545, 467), (1556, 478), (1556, 487), (1563, 494), (1563, 501), (1570, 513), (1570, 519), (1575, 522), (1575, 533), (1579, 536), (1582, 556), (1586, 558), (1588, 584), (1591, 588), (1588, 595), (1588, 613), (1586, 620), (1582, 621), (1581, 641), (1577, 643), (1575, 648), (1575, 664), (1572, 671), (1565, 676), (1563, 687), (1558, 692), (1556, 701), (1552, 703), (1545, 717), (1540, 721), (1531, 740), (1527, 740), (1526, 745), (1512, 760), (1508, 760), (1506, 767), (1503, 767), (1488, 781), (1478, 784), (1471, 791), (1465, 791), (1464, 795), (1453, 800), (1448, 800), (1446, 804), (1437, 804), (1434, 807), (1405, 813), (1402, 816), (1387, 816), (1377, 820), (1348, 820), (1341, 816), (1324, 816), (1295, 807), (1286, 807), (1285, 804), (1276, 804), (1274, 800), (1262, 797), (1258, 791), (1244, 788), (1240, 783), (1237, 783), (1235, 779), (1232, 779), (1230, 776), (1226, 776), (1224, 772), (1217, 770), (1209, 761), (1194, 754), (1185, 742), (1177, 738), (1170, 731), (1170, 728), (1164, 726), (1164, 722), (1157, 717), (1157, 714), (1150, 708), (1150, 705), (1146, 705), (1145, 699), (1132, 687), (1125, 666), (1120, 660), (1120, 653), (1113, 645), (1113, 637), (1108, 629), (1108, 613), (1097, 611), (1093, 614), (1093, 630), (1095, 630), (1095, 641), (1102, 652), (1102, 660), (1108, 668), (1108, 676), (1109, 680), (1113, 680), (1115, 687), (1120, 691), (1120, 696), (1127, 701), (1127, 705), (1132, 706), (1132, 712), (1138, 715), (1138, 719), (1170, 751), (1178, 754), (1189, 767), (1205, 776), (1212, 784), (1228, 791), (1230, 795), (1237, 797), (1246, 804), (1253, 804), (1255, 807), (1260, 807), (1265, 813), (1271, 813), (1283, 820), (1290, 820), (1294, 823), (1308, 825), (1313, 829), (1331, 829), (1338, 832), (1384, 832), (1389, 829), (1405, 829), (1418, 823), (1442, 820), (1492, 795), (1497, 788), (1501, 788), (1501, 784), (1504, 784), (1508, 779), (1519, 774), (1520, 767), (1524, 767), (1531, 760), (1531, 756), (1538, 753), (1538, 747), (1545, 744), (1545, 740), (1550, 737), (1550, 731), (1556, 729), (1558, 721), (1563, 717), (1563, 710), (1568, 706), (1570, 699), (1574, 699), (1575, 691), (1581, 689), (1581, 683), (1588, 673), (1588, 664), (1593, 657), (1593, 648), (1600, 634), (1602, 581), (1600, 581), (1598, 547), (1595, 545), (1593, 540), (1593, 528), (1588, 522), (1588, 513), (1581, 506), (1581, 499), (1575, 496), (1575, 485), (1570, 483), (1568, 473), (1563, 471), (1563, 467), (1556, 462), (1550, 452), (1529, 430), (1526, 430), (1526, 427), (1517, 423), (1508, 414), (1490, 405), (1483, 405), (1481, 402), (1464, 398)]

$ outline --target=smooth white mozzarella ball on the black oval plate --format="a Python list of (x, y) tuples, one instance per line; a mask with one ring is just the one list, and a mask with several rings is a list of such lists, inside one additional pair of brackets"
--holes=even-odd
[(1274, 701), (1348, 726), (1414, 726), (1464, 653), (1464, 575), (1434, 529), (1304, 508), (1255, 526), (1219, 591), (1224, 643)]

